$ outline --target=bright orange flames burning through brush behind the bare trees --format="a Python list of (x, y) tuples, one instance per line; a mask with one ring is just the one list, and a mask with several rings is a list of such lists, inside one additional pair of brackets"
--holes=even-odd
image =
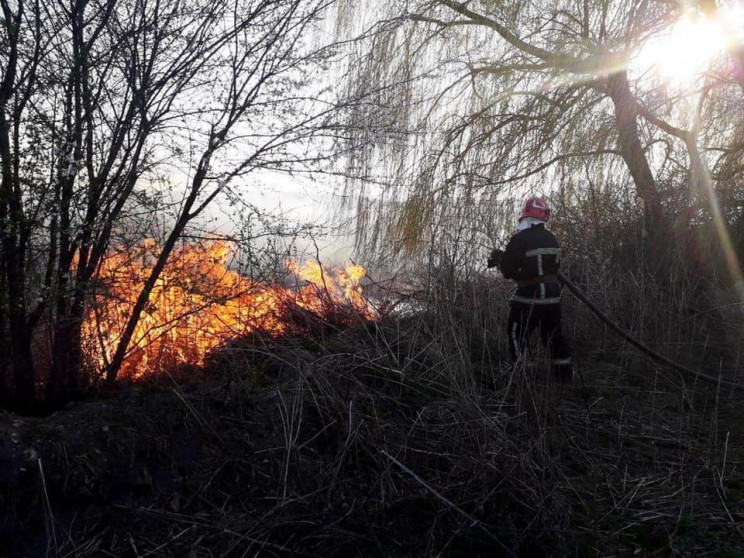
[[(119, 250), (104, 262), (105, 288), (91, 301), (83, 324), (86, 352), (105, 367), (116, 350), (159, 246), (143, 242), (134, 252)], [(347, 307), (370, 319), (362, 295), (363, 267), (329, 269), (314, 262), (287, 262), (299, 281), (286, 289), (251, 280), (227, 267), (230, 245), (212, 241), (174, 251), (150, 295), (130, 343), (121, 376), (141, 378), (178, 365), (203, 364), (211, 349), (255, 331), (287, 333), (286, 310), (299, 306), (324, 316)]]

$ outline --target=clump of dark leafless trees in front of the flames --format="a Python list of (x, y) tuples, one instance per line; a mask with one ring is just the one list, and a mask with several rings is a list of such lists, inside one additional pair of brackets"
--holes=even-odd
[[(81, 389), (85, 305), (112, 238), (168, 212), (107, 363), (126, 355), (177, 240), (258, 169), (307, 166), (328, 104), (309, 39), (325, 0), (2, 0), (0, 395)], [(168, 204), (158, 179), (182, 180)], [(183, 178), (186, 177), (186, 178)], [(161, 201), (159, 201), (161, 200)]]

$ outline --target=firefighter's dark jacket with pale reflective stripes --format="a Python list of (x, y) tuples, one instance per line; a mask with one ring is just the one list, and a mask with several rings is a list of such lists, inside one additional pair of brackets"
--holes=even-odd
[(533, 225), (509, 240), (499, 269), (517, 282), (512, 302), (558, 304), (561, 288), (555, 274), (561, 260), (558, 239), (545, 228)]

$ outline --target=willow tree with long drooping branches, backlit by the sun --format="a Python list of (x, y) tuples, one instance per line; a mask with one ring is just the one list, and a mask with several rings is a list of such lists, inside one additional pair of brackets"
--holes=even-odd
[[(449, 235), (456, 212), (482, 215), (512, 189), (550, 193), (599, 177), (637, 196), (649, 244), (662, 252), (670, 215), (699, 219), (691, 210), (701, 208), (725, 232), (716, 177), (742, 176), (742, 111), (732, 107), (744, 96), (744, 50), (727, 15), (735, 8), (401, 0), (358, 10), (370, 27), (349, 88), (367, 91), (370, 106), (350, 115), (358, 150), (349, 165), (384, 184), (354, 190), (360, 238), (410, 252), (422, 231)], [(643, 67), (646, 47), (683, 15), (704, 13), (719, 17), (725, 55), (676, 88)], [(384, 180), (372, 175), (381, 167)]]

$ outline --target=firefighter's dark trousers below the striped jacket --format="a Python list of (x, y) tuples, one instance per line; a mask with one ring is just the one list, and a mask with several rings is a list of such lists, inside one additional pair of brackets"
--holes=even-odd
[(561, 331), (560, 303), (527, 304), (512, 301), (507, 323), (509, 356), (512, 361), (516, 361), (523, 351), (529, 350), (529, 338), (535, 328), (548, 348), (555, 378), (561, 382), (570, 382), (573, 378), (571, 345)]

